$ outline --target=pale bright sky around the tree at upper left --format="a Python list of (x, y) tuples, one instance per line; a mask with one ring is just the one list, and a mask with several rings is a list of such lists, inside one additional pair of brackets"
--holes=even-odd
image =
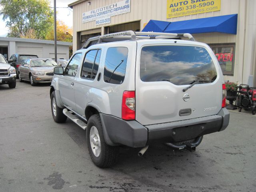
[[(68, 7), (68, 4), (75, 2), (76, 0), (56, 0), (57, 20), (62, 20), (69, 27), (73, 26), (73, 12), (70, 8), (58, 8)], [(51, 6), (54, 6), (54, 1), (50, 0)], [(8, 28), (5, 26), (2, 16), (0, 16), (0, 36), (5, 37), (8, 33)]]

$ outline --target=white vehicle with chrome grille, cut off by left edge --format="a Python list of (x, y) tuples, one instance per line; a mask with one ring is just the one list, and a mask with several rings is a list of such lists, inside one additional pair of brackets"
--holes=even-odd
[(16, 87), (15, 68), (7, 63), (6, 59), (0, 54), (0, 85), (8, 84), (9, 88)]

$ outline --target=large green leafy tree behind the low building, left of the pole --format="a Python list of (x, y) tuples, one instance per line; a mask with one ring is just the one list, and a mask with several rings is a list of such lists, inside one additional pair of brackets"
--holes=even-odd
[(54, 13), (49, 0), (1, 0), (0, 15), (9, 28), (9, 37), (23, 37), (27, 33), (44, 39), (54, 25)]

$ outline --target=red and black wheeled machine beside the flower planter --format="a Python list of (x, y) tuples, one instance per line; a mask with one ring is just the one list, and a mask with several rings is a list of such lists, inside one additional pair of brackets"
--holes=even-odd
[(242, 108), (244, 110), (252, 110), (254, 115), (256, 112), (256, 87), (249, 87), (246, 84), (240, 84), (238, 88), (236, 106), (241, 112)]

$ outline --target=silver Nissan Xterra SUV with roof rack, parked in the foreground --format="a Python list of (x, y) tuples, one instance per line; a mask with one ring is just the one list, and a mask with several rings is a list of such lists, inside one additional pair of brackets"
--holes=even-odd
[[(190, 40), (180, 40), (188, 37)], [(120, 32), (89, 39), (66, 68), (54, 68), (54, 121), (86, 129), (94, 164), (108, 167), (118, 146), (166, 143), (194, 151), (228, 126), (218, 60), (190, 34)]]

